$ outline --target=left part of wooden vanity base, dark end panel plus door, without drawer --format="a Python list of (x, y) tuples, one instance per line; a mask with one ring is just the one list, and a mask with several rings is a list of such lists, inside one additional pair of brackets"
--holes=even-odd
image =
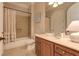
[[(40, 45), (40, 46), (39, 46)], [(53, 55), (53, 43), (40, 38), (35, 37), (35, 51), (37, 56), (50, 56)]]

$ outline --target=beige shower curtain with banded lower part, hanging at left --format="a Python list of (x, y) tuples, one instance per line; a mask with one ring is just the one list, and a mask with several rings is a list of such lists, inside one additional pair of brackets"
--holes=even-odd
[(16, 40), (16, 11), (4, 8), (4, 43)]

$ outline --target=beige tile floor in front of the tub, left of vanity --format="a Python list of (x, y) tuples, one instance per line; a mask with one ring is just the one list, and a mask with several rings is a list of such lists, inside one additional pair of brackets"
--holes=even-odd
[(35, 44), (4, 50), (3, 56), (35, 56)]

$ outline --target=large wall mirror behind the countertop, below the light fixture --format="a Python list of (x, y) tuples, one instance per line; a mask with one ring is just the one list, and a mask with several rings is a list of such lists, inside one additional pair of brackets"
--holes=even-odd
[(49, 7), (47, 16), (50, 22), (50, 32), (65, 33), (67, 28), (67, 10), (71, 7), (72, 2), (64, 2), (62, 5), (53, 8)]

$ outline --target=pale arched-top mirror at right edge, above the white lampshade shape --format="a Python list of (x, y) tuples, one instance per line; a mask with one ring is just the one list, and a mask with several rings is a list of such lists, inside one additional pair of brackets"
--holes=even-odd
[(73, 4), (67, 11), (67, 27), (72, 21), (79, 20), (79, 3)]

